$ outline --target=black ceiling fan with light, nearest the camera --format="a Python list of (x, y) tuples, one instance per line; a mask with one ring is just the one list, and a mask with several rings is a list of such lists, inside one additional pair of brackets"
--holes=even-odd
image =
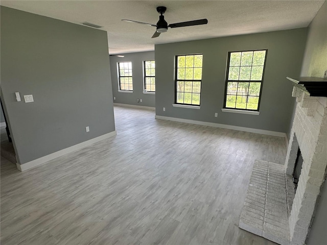
[(151, 27), (156, 27), (157, 30), (153, 34), (152, 38), (158, 37), (160, 33), (162, 32), (167, 32), (168, 28), (177, 28), (177, 27), (190, 27), (190, 26), (197, 26), (198, 24), (206, 24), (208, 23), (207, 19), (197, 19), (197, 20), (191, 20), (191, 21), (185, 21), (185, 22), (179, 22), (179, 23), (173, 23), (173, 24), (168, 24), (165, 20), (164, 14), (166, 12), (167, 8), (164, 6), (159, 6), (157, 7), (157, 12), (160, 13), (159, 16), (159, 21), (157, 24), (150, 24), (150, 23), (145, 23), (145, 22), (139, 22), (135, 20), (129, 20), (129, 19), (122, 19), (123, 21), (128, 21), (128, 22), (134, 22), (138, 24), (147, 24), (148, 26)]

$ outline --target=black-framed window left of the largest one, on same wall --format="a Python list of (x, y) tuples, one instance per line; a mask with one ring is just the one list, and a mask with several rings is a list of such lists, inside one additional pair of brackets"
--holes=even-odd
[(200, 105), (202, 54), (176, 56), (176, 104)]

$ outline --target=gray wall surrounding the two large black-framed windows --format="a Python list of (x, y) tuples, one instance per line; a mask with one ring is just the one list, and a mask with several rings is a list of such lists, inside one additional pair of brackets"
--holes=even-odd
[[(300, 74), (306, 36), (307, 29), (303, 28), (155, 45), (156, 115), (287, 133), (294, 99), (293, 86), (286, 77)], [(266, 48), (260, 115), (222, 112), (227, 53)], [(201, 109), (173, 107), (174, 57), (195, 53), (203, 53)], [(215, 112), (218, 117), (214, 117)]]

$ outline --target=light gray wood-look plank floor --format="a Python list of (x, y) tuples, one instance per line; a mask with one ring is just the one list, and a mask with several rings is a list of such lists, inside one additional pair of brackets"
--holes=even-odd
[(284, 138), (115, 107), (118, 135), (20, 173), (1, 158), (1, 244), (275, 244), (238, 227)]

